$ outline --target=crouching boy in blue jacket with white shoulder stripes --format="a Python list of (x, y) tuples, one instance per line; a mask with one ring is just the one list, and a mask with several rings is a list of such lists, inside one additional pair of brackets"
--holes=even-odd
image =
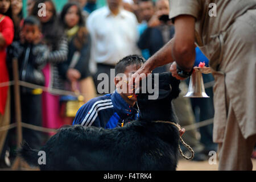
[[(139, 55), (126, 56), (115, 65), (115, 85), (124, 77), (118, 77), (123, 73), (129, 78), (129, 73), (135, 73), (141, 68), (144, 60)], [(127, 91), (127, 90), (126, 90)], [(123, 123), (138, 118), (138, 109), (135, 105), (137, 99), (133, 94), (117, 92), (96, 97), (88, 101), (77, 111), (73, 125), (96, 126), (105, 129), (120, 127)]]

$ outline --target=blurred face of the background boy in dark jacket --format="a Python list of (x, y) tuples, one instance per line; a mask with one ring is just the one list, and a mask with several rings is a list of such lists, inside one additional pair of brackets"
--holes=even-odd
[(23, 36), (27, 43), (34, 43), (40, 36), (40, 30), (38, 26), (33, 24), (25, 24), (23, 29)]

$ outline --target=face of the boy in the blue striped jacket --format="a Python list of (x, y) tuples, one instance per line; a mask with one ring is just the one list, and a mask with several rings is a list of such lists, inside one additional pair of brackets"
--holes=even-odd
[[(115, 86), (119, 93), (125, 98), (129, 98), (130, 101), (137, 101), (137, 98), (134, 97), (134, 93), (129, 93), (128, 89), (128, 82), (129, 82), (129, 75), (133, 75), (142, 65), (132, 64), (126, 67), (125, 72), (123, 73), (123, 77), (115, 77)], [(126, 85), (126, 86), (123, 86)], [(130, 97), (129, 97), (130, 96)]]

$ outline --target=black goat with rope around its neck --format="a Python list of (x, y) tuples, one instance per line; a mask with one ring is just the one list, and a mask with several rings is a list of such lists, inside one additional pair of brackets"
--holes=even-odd
[(38, 151), (27, 143), (18, 154), (41, 170), (175, 170), (179, 131), (154, 121), (177, 122), (171, 100), (179, 96), (179, 82), (171, 73), (160, 74), (159, 98), (148, 100), (150, 94), (138, 94), (140, 117), (124, 127), (60, 129), (41, 148), (46, 164), (38, 164)]

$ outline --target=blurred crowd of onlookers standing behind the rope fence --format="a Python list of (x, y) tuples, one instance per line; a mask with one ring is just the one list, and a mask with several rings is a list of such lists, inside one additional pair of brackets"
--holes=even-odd
[[(100, 8), (96, 0), (69, 0), (60, 12), (52, 0), (24, 2), (0, 0), (0, 83), (13, 80), (16, 59), (19, 80), (47, 88), (48, 92), (20, 87), (22, 122), (31, 125), (51, 129), (71, 125), (75, 115), (67, 114), (68, 103), (86, 103), (96, 97), (100, 73), (111, 78), (110, 69), (127, 55), (139, 54), (147, 60), (175, 34), (168, 19), (168, 0), (107, 0)], [(196, 64), (207, 64), (207, 58), (196, 51)], [(154, 73), (167, 72), (169, 67), (156, 68)], [(214, 115), (212, 86), (206, 89), (210, 98), (184, 98), (188, 81), (181, 82), (183, 92), (174, 102), (181, 126)], [(204, 75), (204, 82), (212, 81), (212, 75)], [(81, 96), (79, 102), (76, 96), (52, 92), (56, 89), (74, 92)], [(13, 86), (1, 87), (0, 127), (15, 122), (14, 106)], [(212, 127), (185, 133), (185, 142), (196, 152), (195, 160), (207, 160), (209, 151), (217, 151)], [(23, 129), (23, 139), (32, 148), (41, 146), (51, 135)], [(15, 141), (15, 130), (0, 131), (0, 167), (10, 166)]]

